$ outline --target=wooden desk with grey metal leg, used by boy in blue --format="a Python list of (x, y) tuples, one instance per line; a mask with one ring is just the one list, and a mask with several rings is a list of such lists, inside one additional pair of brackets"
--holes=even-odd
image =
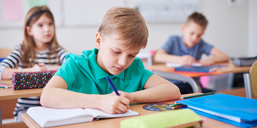
[(193, 72), (181, 72), (174, 71), (174, 68), (169, 68), (165, 64), (155, 64), (149, 66), (148, 69), (152, 70), (152, 73), (167, 79), (174, 79), (180, 81), (186, 81), (193, 89), (193, 92), (202, 92), (201, 85), (196, 77), (205, 75), (221, 75), (227, 73), (249, 73), (251, 66), (239, 67), (235, 66), (232, 61), (215, 63), (216, 65), (226, 65), (226, 67), (217, 68), (217, 71), (212, 73), (193, 73)]

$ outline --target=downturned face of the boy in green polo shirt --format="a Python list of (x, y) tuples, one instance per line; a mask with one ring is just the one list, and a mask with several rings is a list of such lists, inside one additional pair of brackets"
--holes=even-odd
[(119, 75), (134, 61), (141, 48), (126, 48), (125, 40), (118, 35), (107, 36), (102, 40), (99, 32), (96, 34), (97, 64), (109, 75)]

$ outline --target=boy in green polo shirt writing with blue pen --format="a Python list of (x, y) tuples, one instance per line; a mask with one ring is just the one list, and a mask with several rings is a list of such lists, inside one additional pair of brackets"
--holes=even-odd
[[(115, 114), (127, 112), (131, 102), (179, 99), (176, 85), (146, 70), (141, 59), (135, 57), (145, 48), (147, 38), (144, 18), (136, 9), (109, 9), (96, 33), (96, 48), (66, 56), (43, 90), (41, 105), (94, 108)], [(121, 96), (113, 92), (106, 76)]]

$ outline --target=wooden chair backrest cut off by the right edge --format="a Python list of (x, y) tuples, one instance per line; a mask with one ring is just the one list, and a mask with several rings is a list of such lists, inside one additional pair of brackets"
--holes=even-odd
[(250, 77), (252, 83), (252, 95), (257, 97), (257, 60), (252, 64), (250, 68)]

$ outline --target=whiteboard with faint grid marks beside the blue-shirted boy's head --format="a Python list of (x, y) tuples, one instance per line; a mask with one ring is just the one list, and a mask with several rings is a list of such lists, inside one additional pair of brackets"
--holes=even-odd
[(134, 0), (134, 8), (146, 23), (185, 22), (193, 12), (200, 12), (200, 0)]

